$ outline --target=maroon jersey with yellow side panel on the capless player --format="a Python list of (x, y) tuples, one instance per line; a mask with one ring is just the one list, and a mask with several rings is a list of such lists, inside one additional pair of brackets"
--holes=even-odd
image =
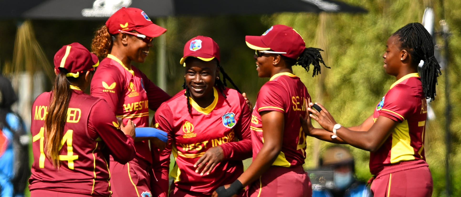
[(403, 76), (390, 86), (373, 113), (397, 122), (390, 136), (370, 153), (370, 171), (377, 174), (385, 165), (409, 160), (426, 160), (424, 135), (427, 103), (418, 73)]

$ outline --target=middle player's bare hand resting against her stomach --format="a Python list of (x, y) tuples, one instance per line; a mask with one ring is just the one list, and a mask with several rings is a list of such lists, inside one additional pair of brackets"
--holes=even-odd
[(205, 152), (194, 164), (195, 173), (210, 174), (214, 167), (224, 160), (224, 151), (221, 146), (214, 146)]

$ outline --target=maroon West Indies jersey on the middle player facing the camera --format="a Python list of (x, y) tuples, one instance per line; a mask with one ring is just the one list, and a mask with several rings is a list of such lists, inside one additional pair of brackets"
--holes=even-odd
[[(236, 180), (243, 173), (242, 160), (251, 157), (251, 113), (245, 99), (233, 89), (224, 90), (227, 98), (216, 88), (213, 91), (214, 101), (206, 108), (200, 107), (193, 99), (189, 100), (191, 114), (185, 90), (163, 103), (155, 113), (155, 127), (168, 132), (170, 137), (170, 144), (161, 156), (162, 179), (168, 180), (172, 152), (176, 164), (171, 176), (175, 186), (182, 191), (211, 195), (219, 186)], [(195, 162), (215, 146), (222, 147), (225, 160), (210, 174), (195, 173)], [(162, 187), (168, 191), (167, 184)]]

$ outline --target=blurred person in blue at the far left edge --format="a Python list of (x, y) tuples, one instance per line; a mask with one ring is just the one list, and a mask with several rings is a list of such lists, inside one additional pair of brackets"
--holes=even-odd
[(23, 119), (11, 110), (18, 96), (0, 75), (0, 197), (24, 196), (29, 170), (29, 135)]

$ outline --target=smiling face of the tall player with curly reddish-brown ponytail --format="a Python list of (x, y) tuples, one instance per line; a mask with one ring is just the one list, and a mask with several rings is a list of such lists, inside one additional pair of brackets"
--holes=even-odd
[[(134, 31), (134, 33), (139, 34), (138, 32)], [(149, 54), (149, 49), (152, 47), (152, 41), (145, 42), (142, 38), (136, 37), (131, 34), (127, 35), (127, 53), (126, 55), (131, 61), (135, 62), (144, 62), (146, 60), (146, 56)]]

